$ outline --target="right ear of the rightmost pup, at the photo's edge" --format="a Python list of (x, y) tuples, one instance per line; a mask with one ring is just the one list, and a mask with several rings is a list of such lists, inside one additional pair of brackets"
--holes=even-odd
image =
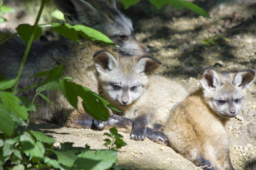
[(242, 89), (246, 89), (253, 83), (255, 79), (255, 70), (253, 69), (246, 69), (238, 71), (235, 75), (233, 84), (238, 87), (242, 87)]

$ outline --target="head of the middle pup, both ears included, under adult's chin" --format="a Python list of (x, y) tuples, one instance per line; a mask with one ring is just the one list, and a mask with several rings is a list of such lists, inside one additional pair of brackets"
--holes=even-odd
[(103, 93), (112, 105), (126, 107), (137, 100), (147, 88), (147, 75), (160, 67), (152, 57), (114, 57), (103, 50), (93, 57)]

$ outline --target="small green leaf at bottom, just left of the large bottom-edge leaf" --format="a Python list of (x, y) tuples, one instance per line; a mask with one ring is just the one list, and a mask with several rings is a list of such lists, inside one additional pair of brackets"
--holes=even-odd
[(57, 160), (59, 163), (67, 166), (72, 167), (75, 160), (77, 159), (75, 151), (55, 151), (51, 150), (57, 156)]

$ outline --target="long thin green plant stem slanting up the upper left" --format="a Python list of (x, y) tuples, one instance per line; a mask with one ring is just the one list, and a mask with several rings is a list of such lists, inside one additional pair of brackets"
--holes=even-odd
[(38, 12), (38, 16), (36, 17), (36, 21), (35, 21), (35, 24), (32, 28), (32, 34), (30, 36), (30, 40), (28, 41), (28, 44), (27, 44), (27, 48), (25, 50), (25, 53), (24, 53), (24, 56), (22, 58), (22, 63), (20, 64), (20, 67), (19, 67), (19, 71), (18, 71), (18, 75), (16, 77), (16, 82), (14, 84), (14, 88), (13, 88), (13, 94), (16, 95), (17, 93), (17, 87), (18, 87), (18, 83), (19, 83), (19, 79), (20, 79), (20, 76), (22, 74), (22, 70), (23, 70), (23, 67), (26, 63), (26, 60), (27, 60), (27, 56), (28, 56), (28, 53), (30, 52), (30, 48), (31, 48), (31, 45), (32, 45), (32, 42), (34, 40), (34, 37), (35, 37), (35, 33), (36, 33), (36, 28), (38, 27), (38, 22), (39, 22), (39, 19), (42, 15), (42, 12), (43, 12), (43, 8), (44, 8), (44, 5), (47, 3), (46, 0), (42, 0), (42, 3), (41, 3), (41, 6), (40, 6), (40, 10)]

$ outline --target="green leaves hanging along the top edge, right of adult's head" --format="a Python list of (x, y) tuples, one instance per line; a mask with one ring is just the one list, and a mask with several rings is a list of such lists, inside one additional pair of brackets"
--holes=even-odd
[[(125, 8), (129, 8), (131, 5), (134, 5), (134, 4), (138, 3), (139, 1), (140, 0), (133, 0), (133, 1), (121, 0), (123, 5), (125, 6)], [(185, 7), (188, 10), (195, 12), (196, 14), (210, 18), (210, 16), (207, 14), (207, 12), (205, 12), (202, 8), (200, 8), (199, 6), (197, 6), (191, 2), (188, 2), (188, 1), (181, 1), (181, 0), (148, 0), (148, 1), (150, 3), (152, 3), (152, 5), (154, 5), (158, 10), (166, 4), (170, 4), (170, 5), (174, 6), (175, 8), (177, 8), (178, 10), (182, 10), (183, 7)]]

